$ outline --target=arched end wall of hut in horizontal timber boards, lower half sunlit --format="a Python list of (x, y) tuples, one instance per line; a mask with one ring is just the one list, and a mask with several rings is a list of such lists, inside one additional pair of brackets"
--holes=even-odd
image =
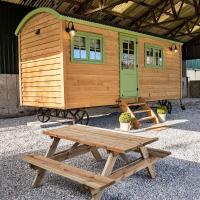
[(20, 34), (23, 105), (64, 107), (60, 28), (59, 20), (43, 13), (32, 18)]

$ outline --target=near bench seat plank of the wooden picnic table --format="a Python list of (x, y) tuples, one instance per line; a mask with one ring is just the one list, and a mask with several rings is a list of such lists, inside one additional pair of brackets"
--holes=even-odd
[(95, 173), (61, 163), (40, 155), (26, 155), (23, 160), (39, 168), (64, 176), (70, 180), (84, 184), (93, 189), (103, 189), (115, 181), (111, 178), (99, 176)]

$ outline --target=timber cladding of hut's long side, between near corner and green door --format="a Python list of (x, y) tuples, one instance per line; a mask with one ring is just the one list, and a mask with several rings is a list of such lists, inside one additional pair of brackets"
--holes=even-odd
[[(65, 22), (63, 22), (63, 28)], [(65, 106), (67, 108), (116, 104), (119, 97), (118, 33), (75, 24), (77, 30), (104, 38), (104, 63), (73, 63), (70, 60), (70, 38), (63, 36)]]

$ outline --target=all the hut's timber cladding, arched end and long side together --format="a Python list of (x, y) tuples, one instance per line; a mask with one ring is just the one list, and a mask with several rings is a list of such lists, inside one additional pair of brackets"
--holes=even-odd
[[(104, 59), (102, 63), (72, 62), (67, 23), (40, 13), (20, 32), (21, 104), (61, 109), (116, 104), (120, 97), (120, 32), (74, 23), (79, 32), (101, 36)], [(181, 49), (178, 53), (170, 51), (167, 40), (127, 37), (137, 37), (138, 41), (139, 96), (146, 100), (180, 98)], [(145, 66), (145, 44), (162, 48), (162, 67)]]

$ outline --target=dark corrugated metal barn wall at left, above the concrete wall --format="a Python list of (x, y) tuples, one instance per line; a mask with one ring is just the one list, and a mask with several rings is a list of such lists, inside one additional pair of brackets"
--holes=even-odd
[(30, 8), (0, 1), (0, 74), (18, 73), (15, 29)]

